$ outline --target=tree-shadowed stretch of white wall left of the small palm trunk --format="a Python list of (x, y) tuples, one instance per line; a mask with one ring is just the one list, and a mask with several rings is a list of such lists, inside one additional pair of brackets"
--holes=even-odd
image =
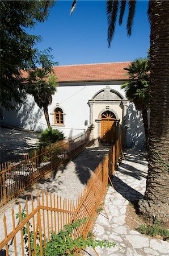
[(40, 118), (43, 115), (43, 110), (39, 109), (35, 101), (31, 97), (27, 97), (24, 104), (19, 105), (16, 111), (3, 110), (3, 122), (8, 125), (26, 128), (28, 130), (40, 131)]

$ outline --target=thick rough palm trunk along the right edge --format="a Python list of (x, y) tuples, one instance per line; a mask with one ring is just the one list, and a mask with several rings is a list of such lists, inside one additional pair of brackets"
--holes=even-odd
[(169, 225), (169, 1), (149, 1), (149, 170), (140, 211)]

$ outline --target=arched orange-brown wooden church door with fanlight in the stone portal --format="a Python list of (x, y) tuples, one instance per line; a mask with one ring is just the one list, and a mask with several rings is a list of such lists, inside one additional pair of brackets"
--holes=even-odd
[(104, 143), (112, 143), (116, 137), (116, 116), (107, 110), (101, 114), (100, 140)]

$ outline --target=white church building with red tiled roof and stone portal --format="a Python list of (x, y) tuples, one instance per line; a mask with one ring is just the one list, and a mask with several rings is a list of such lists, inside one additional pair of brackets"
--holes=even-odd
[[(92, 125), (92, 139), (103, 139), (113, 127), (124, 127), (128, 147), (145, 144), (142, 115), (129, 103), (121, 85), (130, 62), (65, 65), (54, 67), (58, 87), (48, 107), (53, 129), (71, 138)], [(28, 95), (18, 111), (3, 110), (3, 122), (24, 129), (47, 128), (43, 110)], [(116, 129), (117, 132), (118, 129)]]

